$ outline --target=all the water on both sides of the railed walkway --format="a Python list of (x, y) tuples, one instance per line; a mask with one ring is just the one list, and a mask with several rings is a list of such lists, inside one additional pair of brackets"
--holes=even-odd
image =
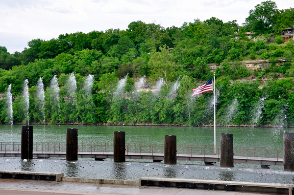
[[(126, 143), (163, 144), (164, 135), (172, 134), (177, 136), (177, 144), (214, 144), (214, 130), (211, 127), (69, 125), (33, 125), (34, 142), (66, 142), (67, 128), (78, 128), (78, 142), (112, 143), (113, 131), (125, 131)], [(294, 129), (218, 127), (216, 140), (219, 145), (220, 133), (233, 133), (234, 146), (283, 147), (283, 131)], [(21, 125), (14, 125), (12, 130), (10, 125), (0, 125), (0, 142), (21, 142)], [(32, 159), (24, 162), (20, 158), (0, 158), (0, 170), (62, 172), (65, 176), (85, 178), (138, 180), (142, 176), (153, 176), (286, 184), (294, 181), (294, 173), (282, 171), (282, 166), (270, 166), (268, 170), (260, 169), (260, 165), (235, 163), (234, 168), (228, 169), (203, 164), (178, 161), (178, 165), (165, 165), (150, 160), (114, 163), (112, 159)]]

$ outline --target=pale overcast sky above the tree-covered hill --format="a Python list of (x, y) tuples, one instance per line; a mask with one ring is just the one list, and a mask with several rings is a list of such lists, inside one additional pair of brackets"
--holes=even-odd
[[(245, 22), (262, 0), (0, 0), (0, 46), (23, 51), (32, 39), (109, 28), (126, 29), (130, 22), (159, 23), (165, 28), (216, 17)], [(275, 0), (278, 9), (294, 7), (293, 0)]]

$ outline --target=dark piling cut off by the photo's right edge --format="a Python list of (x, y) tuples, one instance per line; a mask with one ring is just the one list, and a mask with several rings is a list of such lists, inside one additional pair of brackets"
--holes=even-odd
[(283, 132), (284, 170), (294, 171), (294, 132)]

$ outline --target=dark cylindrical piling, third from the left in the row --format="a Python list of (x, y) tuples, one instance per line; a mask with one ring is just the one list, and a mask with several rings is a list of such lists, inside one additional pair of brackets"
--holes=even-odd
[(113, 132), (113, 161), (125, 162), (125, 132)]

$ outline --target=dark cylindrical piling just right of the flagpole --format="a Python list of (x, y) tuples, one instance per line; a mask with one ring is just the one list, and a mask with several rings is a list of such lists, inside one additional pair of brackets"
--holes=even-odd
[(234, 167), (233, 134), (221, 133), (221, 167)]

